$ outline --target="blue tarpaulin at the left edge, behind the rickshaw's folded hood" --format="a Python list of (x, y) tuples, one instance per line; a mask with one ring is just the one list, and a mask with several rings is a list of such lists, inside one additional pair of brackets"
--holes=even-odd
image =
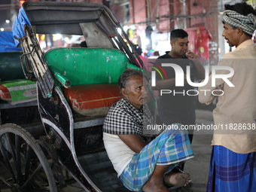
[(14, 43), (12, 32), (0, 32), (0, 52), (20, 51)]

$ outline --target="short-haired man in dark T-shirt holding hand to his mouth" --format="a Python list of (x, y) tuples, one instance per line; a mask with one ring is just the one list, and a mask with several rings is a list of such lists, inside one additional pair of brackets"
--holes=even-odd
[[(175, 29), (171, 32), (171, 51), (159, 56), (156, 60), (158, 66), (162, 63), (175, 63), (184, 72), (184, 86), (175, 86), (175, 69), (170, 66), (163, 66), (166, 79), (157, 74), (154, 90), (166, 90), (159, 94), (159, 115), (165, 124), (181, 123), (183, 125), (195, 124), (194, 87), (187, 84), (187, 66), (190, 68), (190, 80), (205, 78), (205, 69), (197, 56), (188, 50), (188, 34), (183, 29)], [(167, 91), (168, 90), (168, 91)], [(193, 139), (193, 130), (188, 130), (190, 142)]]

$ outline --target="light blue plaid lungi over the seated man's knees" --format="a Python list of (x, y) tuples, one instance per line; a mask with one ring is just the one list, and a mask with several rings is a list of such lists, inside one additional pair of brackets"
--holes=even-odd
[[(178, 125), (180, 126), (180, 125)], [(134, 154), (120, 175), (120, 181), (129, 190), (143, 191), (156, 165), (170, 165), (171, 171), (179, 162), (194, 157), (186, 130), (165, 130), (141, 152)]]

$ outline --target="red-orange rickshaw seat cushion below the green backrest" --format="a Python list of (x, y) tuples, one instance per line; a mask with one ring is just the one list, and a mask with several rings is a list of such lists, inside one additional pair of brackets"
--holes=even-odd
[(123, 96), (117, 84), (84, 84), (62, 92), (75, 113), (84, 116), (105, 116), (114, 102)]

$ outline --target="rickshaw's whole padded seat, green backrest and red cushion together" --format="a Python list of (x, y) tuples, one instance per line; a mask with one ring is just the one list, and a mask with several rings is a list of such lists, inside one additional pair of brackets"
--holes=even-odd
[(72, 110), (85, 116), (107, 114), (122, 98), (118, 78), (127, 68), (137, 68), (115, 49), (56, 48), (44, 58)]

